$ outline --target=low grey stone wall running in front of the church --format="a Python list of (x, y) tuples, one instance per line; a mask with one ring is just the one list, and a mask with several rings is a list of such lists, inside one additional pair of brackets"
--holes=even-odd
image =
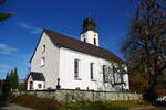
[(58, 101), (111, 101), (111, 100), (138, 100), (142, 99), (141, 94), (131, 92), (110, 92), (110, 91), (86, 91), (86, 90), (42, 90), (42, 91), (18, 91), (13, 92), (14, 96), (19, 95), (35, 95), (37, 97), (53, 98)]

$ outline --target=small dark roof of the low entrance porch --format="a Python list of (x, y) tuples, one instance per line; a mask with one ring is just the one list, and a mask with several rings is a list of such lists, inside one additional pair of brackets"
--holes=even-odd
[(30, 75), (33, 80), (45, 81), (45, 77), (42, 73), (31, 72)]

